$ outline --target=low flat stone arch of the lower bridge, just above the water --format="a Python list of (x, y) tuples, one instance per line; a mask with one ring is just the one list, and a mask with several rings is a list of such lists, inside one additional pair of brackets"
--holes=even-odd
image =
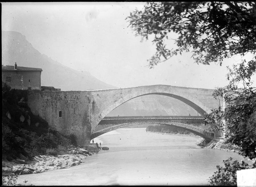
[(192, 125), (188, 125), (188, 124), (184, 124), (184, 123), (179, 123), (179, 122), (172, 122), (172, 121), (163, 121), (163, 122), (156, 122), (156, 121), (152, 121), (152, 122), (148, 122), (148, 121), (139, 121), (139, 122), (132, 122), (132, 123), (122, 123), (122, 124), (118, 124), (118, 125), (114, 125), (111, 127), (107, 127), (105, 129), (102, 129), (100, 131), (97, 131), (95, 133), (92, 133), (91, 135), (91, 140), (102, 135), (105, 133), (108, 133), (110, 131), (122, 128), (122, 127), (126, 127), (126, 126), (133, 126), (133, 125), (141, 125), (141, 124), (159, 124), (159, 125), (168, 125), (168, 126), (175, 126), (178, 128), (182, 128), (185, 129), (191, 133), (194, 133), (198, 136), (201, 136), (202, 138), (204, 138), (205, 140), (211, 141), (214, 138), (214, 133), (210, 133), (205, 131), (204, 129), (198, 128), (196, 126), (192, 126)]

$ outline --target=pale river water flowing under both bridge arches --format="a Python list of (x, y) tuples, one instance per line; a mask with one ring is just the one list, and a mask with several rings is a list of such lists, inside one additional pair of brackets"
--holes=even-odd
[(146, 132), (146, 128), (117, 129), (94, 139), (98, 154), (66, 169), (19, 176), (35, 185), (207, 185), (216, 165), (233, 152), (201, 148), (198, 138)]

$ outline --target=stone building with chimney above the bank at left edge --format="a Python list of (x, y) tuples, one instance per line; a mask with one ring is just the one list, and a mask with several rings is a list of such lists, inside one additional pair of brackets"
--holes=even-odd
[(2, 82), (12, 89), (41, 90), (41, 68), (2, 65)]

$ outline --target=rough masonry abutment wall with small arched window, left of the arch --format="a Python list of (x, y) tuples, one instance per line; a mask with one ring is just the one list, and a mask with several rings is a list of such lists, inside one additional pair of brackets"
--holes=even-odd
[(90, 92), (29, 92), (28, 106), (35, 115), (45, 119), (50, 127), (63, 135), (75, 134), (78, 144), (90, 143)]

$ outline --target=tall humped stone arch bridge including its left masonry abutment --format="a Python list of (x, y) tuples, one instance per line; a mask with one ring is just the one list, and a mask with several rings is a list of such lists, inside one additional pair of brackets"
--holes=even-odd
[[(150, 94), (173, 97), (203, 116), (223, 105), (222, 97), (215, 99), (213, 91), (169, 85), (88, 91), (30, 91), (28, 106), (52, 128), (64, 135), (75, 134), (79, 144), (88, 144), (100, 121), (110, 111), (135, 97)], [(214, 134), (217, 138), (223, 137), (221, 131)]]

